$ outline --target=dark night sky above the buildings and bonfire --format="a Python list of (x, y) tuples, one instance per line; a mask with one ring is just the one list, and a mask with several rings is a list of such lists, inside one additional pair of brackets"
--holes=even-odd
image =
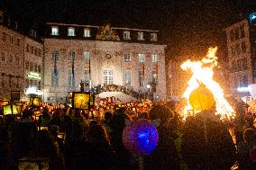
[(111, 22), (114, 26), (159, 30), (172, 58), (202, 56), (216, 45), (224, 51), (224, 27), (239, 20), (241, 13), (256, 10), (255, 0), (7, 1), (10, 13), (26, 23)]

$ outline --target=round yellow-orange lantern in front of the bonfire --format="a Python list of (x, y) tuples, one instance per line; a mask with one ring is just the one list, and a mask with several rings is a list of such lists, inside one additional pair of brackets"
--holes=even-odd
[(215, 98), (205, 85), (200, 85), (189, 95), (189, 103), (195, 111), (205, 111), (215, 104)]

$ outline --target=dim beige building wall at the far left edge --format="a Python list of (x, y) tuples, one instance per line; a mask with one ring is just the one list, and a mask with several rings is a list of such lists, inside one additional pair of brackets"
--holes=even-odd
[(23, 93), (23, 35), (0, 25), (0, 99), (11, 98), (11, 91)]

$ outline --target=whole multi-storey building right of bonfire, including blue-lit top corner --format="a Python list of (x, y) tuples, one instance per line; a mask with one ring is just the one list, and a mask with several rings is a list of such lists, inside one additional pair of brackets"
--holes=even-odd
[(227, 35), (230, 91), (239, 97), (250, 95), (256, 78), (256, 13), (225, 29)]

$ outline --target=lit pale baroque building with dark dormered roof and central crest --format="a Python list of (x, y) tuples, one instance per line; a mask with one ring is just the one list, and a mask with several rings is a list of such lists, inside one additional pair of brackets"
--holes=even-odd
[(45, 102), (63, 102), (81, 82), (122, 85), (166, 99), (165, 47), (158, 31), (47, 23), (43, 40)]

